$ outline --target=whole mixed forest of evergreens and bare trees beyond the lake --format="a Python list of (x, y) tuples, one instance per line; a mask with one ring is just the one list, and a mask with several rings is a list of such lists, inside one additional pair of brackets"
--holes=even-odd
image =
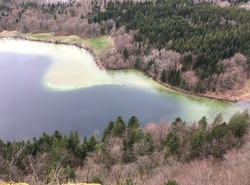
[(0, 31), (111, 35), (113, 49), (98, 56), (105, 68), (137, 68), (196, 93), (238, 90), (249, 78), (250, 14), (242, 1), (41, 2), (0, 2)]

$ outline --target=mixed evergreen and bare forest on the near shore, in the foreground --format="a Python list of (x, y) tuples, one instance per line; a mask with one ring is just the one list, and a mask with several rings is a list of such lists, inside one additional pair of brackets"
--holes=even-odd
[[(109, 122), (102, 136), (80, 138), (76, 131), (69, 136), (55, 131), (30, 141), (0, 140), (0, 180), (30, 184), (249, 184), (249, 125), (248, 111), (236, 113), (228, 123), (218, 114), (211, 124), (206, 117), (193, 124), (176, 118), (171, 124), (161, 121), (145, 128), (132, 116), (127, 124), (121, 117)], [(232, 156), (244, 170), (241, 175), (235, 164), (230, 166)], [(198, 169), (201, 164), (205, 169)], [(190, 178), (187, 174), (207, 173), (204, 170), (211, 170), (210, 177), (207, 174), (200, 179), (197, 174)], [(224, 179), (222, 173), (232, 174)]]

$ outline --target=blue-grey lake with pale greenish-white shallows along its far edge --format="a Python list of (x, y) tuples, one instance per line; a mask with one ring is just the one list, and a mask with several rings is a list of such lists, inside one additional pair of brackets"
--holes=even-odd
[(101, 71), (74, 46), (0, 40), (0, 138), (23, 140), (59, 130), (81, 137), (136, 115), (142, 126), (180, 117), (187, 123), (249, 108), (167, 89), (134, 70)]

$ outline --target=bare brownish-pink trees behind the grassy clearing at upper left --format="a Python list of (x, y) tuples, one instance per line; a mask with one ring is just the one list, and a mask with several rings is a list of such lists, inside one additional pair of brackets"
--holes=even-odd
[[(87, 14), (97, 1), (16, 0), (0, 2), (0, 31), (54, 32), (55, 35), (98, 36), (99, 24), (88, 24)], [(103, 26), (106, 24), (103, 23)]]

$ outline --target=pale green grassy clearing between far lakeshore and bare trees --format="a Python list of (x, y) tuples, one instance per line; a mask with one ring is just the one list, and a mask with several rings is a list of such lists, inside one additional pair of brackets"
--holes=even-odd
[(76, 35), (54, 36), (53, 33), (33, 34), (33, 33), (20, 33), (18, 31), (3, 31), (0, 33), (0, 37), (14, 37), (14, 36), (22, 36), (27, 39), (65, 42), (69, 44), (77, 43), (83, 47), (88, 47), (90, 49), (93, 49), (96, 54), (100, 54), (110, 49), (113, 43), (113, 40), (110, 36), (102, 36), (95, 38), (80, 38)]

